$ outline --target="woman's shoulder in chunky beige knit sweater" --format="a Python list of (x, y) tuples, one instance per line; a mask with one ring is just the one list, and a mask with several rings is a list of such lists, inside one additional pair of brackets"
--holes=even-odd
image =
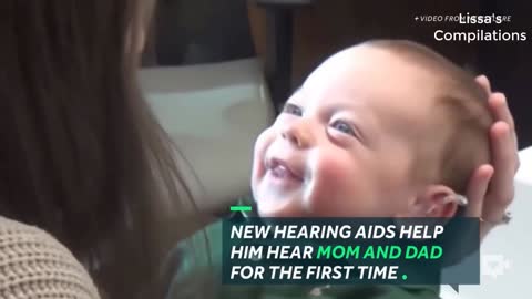
[(47, 231), (0, 217), (0, 293), (7, 298), (100, 298), (84, 267)]

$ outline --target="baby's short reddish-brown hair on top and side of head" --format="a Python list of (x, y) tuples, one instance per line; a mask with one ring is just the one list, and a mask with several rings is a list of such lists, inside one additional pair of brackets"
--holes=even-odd
[[(417, 141), (419, 146), (412, 175), (464, 194), (473, 171), (490, 162), (489, 128), (493, 120), (487, 91), (474, 75), (421, 44), (405, 40), (371, 40), (365, 45), (387, 50), (417, 64), (433, 73), (441, 83), (434, 109), (441, 113), (439, 118), (444, 123), (440, 121), (436, 124), (438, 131), (428, 132), (432, 136)], [(423, 146), (431, 151), (423, 151)]]

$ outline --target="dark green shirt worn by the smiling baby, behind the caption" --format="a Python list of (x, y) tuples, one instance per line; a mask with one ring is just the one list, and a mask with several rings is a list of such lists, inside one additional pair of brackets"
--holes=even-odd
[[(232, 217), (248, 215), (237, 213)], [(180, 243), (171, 259), (172, 271), (166, 299), (432, 299), (439, 286), (228, 286), (222, 285), (222, 220)], [(168, 264), (172, 264), (171, 261)]]

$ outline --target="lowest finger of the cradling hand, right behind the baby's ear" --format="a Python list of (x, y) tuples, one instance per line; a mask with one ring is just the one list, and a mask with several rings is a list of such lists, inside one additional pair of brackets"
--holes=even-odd
[(481, 165), (479, 168), (477, 168), (477, 171), (474, 171), (466, 194), (469, 200), (466, 209), (466, 217), (482, 216), (482, 208), (492, 176), (493, 167), (489, 164)]

